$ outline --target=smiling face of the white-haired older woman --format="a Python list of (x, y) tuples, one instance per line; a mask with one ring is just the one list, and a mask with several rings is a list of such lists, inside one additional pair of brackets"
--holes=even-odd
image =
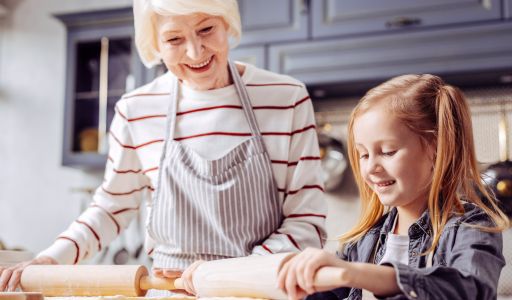
[(158, 47), (174, 75), (196, 90), (229, 85), (227, 24), (207, 14), (158, 16)]

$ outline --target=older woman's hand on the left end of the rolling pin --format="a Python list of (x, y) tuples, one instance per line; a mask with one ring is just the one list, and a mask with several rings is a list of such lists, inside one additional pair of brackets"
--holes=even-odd
[(14, 292), (21, 279), (21, 273), (30, 265), (56, 265), (57, 261), (49, 256), (40, 256), (11, 267), (0, 267), (0, 292)]

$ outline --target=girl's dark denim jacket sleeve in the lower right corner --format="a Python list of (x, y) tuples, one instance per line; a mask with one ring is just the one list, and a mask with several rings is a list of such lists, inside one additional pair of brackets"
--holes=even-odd
[(416, 269), (393, 264), (398, 285), (409, 299), (495, 299), (505, 265), (501, 233), (483, 232), (461, 223), (491, 226), (483, 213), (445, 228), (434, 266)]

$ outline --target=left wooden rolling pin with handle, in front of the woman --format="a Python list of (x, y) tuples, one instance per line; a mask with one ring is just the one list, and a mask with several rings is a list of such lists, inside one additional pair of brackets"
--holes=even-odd
[(176, 289), (173, 279), (148, 276), (142, 265), (30, 265), (20, 285), (44, 296), (144, 296), (149, 289)]

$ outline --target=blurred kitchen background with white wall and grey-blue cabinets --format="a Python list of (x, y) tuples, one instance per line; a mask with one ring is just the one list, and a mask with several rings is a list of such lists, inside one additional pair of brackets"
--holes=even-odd
[[(482, 169), (512, 154), (505, 147), (512, 134), (502, 130), (500, 139), (499, 132), (500, 120), (512, 124), (512, 0), (239, 4), (243, 36), (232, 58), (308, 85), (324, 157), (329, 249), (358, 217), (346, 123), (377, 83), (404, 73), (443, 76), (471, 102)], [(115, 102), (165, 71), (138, 60), (130, 5), (0, 0), (0, 249), (37, 253), (76, 219), (101, 184)], [(512, 207), (506, 183), (503, 205)], [(94, 262), (148, 263), (143, 214)], [(510, 263), (510, 230), (504, 236)], [(500, 293), (512, 297), (509, 265)]]

